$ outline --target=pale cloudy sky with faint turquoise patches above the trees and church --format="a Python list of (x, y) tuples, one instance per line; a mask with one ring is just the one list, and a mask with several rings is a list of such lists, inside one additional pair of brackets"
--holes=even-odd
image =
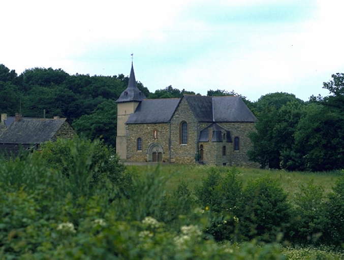
[(0, 64), (70, 75), (129, 76), (150, 92), (169, 85), (257, 101), (274, 92), (329, 95), (344, 73), (344, 1), (7, 0)]

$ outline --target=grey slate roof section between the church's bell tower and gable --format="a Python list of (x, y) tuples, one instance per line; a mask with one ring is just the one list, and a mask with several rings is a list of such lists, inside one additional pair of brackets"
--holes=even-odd
[(143, 100), (131, 114), (127, 124), (167, 123), (172, 118), (180, 99)]

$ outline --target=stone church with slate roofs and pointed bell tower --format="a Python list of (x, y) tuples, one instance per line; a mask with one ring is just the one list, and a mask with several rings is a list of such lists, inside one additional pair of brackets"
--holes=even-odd
[(128, 87), (116, 103), (122, 161), (257, 167), (246, 155), (257, 118), (240, 96), (146, 99), (132, 63)]

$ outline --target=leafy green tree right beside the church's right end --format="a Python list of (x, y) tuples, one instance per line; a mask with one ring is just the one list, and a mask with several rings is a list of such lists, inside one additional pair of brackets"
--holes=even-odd
[(294, 94), (270, 93), (262, 96), (255, 104), (258, 111), (256, 132), (249, 134), (254, 149), (248, 152), (249, 159), (261, 167), (274, 169), (296, 169), (294, 133), (302, 114), (304, 102)]

